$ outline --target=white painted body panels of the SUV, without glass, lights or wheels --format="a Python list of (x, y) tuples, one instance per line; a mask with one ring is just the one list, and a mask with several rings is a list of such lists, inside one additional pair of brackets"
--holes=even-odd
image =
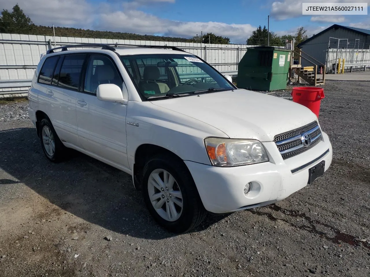
[[(70, 50), (68, 54), (84, 52), (103, 53), (112, 58), (127, 88), (127, 94), (122, 93), (127, 99), (122, 103), (101, 101), (96, 96), (37, 83), (44, 60), (58, 53), (44, 55), (28, 93), (28, 111), (34, 124), (37, 111), (46, 113), (67, 147), (132, 174), (132, 177), (138, 147), (143, 144), (163, 147), (184, 161), (203, 205), (213, 213), (280, 201), (307, 185), (309, 167), (322, 160), (326, 161), (325, 170), (330, 166), (332, 147), (323, 132), (320, 143), (287, 160), (283, 160), (273, 142), (277, 134), (317, 120), (302, 105), (243, 89), (142, 101), (117, 54), (184, 52), (127, 48), (115, 52), (101, 49)], [(54, 94), (48, 95), (48, 90)], [(205, 149), (206, 137), (260, 140), (269, 161), (238, 167), (212, 166)], [(327, 149), (329, 152), (320, 160), (295, 173), (291, 172), (312, 162)], [(260, 187), (246, 196), (243, 188), (248, 182), (258, 183)]]

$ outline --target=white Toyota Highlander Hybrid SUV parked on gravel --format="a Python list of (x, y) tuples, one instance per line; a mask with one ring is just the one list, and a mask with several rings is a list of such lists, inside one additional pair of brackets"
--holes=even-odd
[(280, 201), (332, 162), (329, 137), (309, 109), (238, 89), (176, 47), (51, 49), (28, 99), (50, 161), (65, 158), (67, 147), (131, 174), (171, 232), (194, 228), (207, 211)]

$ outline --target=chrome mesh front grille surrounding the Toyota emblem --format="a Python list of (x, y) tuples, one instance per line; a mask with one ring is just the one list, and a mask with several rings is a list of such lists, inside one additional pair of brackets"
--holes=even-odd
[[(302, 143), (302, 133), (307, 133), (311, 139), (308, 146)], [(279, 134), (274, 137), (274, 141), (285, 160), (311, 149), (321, 141), (321, 138), (319, 124), (315, 121), (298, 129)]]

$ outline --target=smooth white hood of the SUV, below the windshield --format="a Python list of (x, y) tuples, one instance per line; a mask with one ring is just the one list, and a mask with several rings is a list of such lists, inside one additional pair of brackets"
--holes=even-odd
[(152, 101), (209, 124), (230, 138), (273, 141), (277, 134), (317, 120), (305, 106), (245, 89)]

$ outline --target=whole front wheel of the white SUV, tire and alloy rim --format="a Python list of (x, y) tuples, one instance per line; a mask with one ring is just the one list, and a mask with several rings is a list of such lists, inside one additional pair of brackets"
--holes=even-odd
[(154, 219), (170, 232), (183, 233), (198, 226), (206, 216), (186, 165), (172, 155), (147, 161), (142, 193)]

